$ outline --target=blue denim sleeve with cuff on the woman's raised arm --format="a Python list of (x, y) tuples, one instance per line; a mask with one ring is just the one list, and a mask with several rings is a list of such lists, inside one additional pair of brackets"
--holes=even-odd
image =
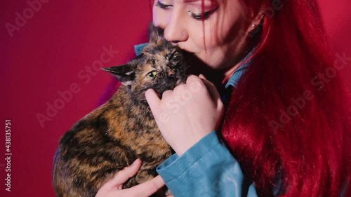
[(245, 179), (239, 163), (220, 143), (215, 131), (182, 156), (168, 158), (157, 172), (176, 197), (257, 197), (255, 187)]

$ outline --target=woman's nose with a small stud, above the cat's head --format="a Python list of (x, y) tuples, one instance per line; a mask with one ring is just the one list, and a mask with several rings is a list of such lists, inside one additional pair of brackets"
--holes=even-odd
[(182, 12), (184, 12), (183, 9), (173, 8), (172, 13), (168, 16), (168, 23), (164, 29), (165, 39), (173, 43), (187, 41), (189, 38)]

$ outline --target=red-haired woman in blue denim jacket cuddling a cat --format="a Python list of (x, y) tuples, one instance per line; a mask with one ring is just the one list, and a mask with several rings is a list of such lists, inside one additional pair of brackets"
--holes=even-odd
[(121, 190), (137, 160), (97, 196), (150, 196), (164, 182), (174, 196), (350, 195), (340, 79), (350, 58), (331, 53), (315, 0), (156, 0), (153, 23), (200, 60), (187, 84), (161, 100), (145, 94), (176, 154), (157, 168), (162, 178)]

